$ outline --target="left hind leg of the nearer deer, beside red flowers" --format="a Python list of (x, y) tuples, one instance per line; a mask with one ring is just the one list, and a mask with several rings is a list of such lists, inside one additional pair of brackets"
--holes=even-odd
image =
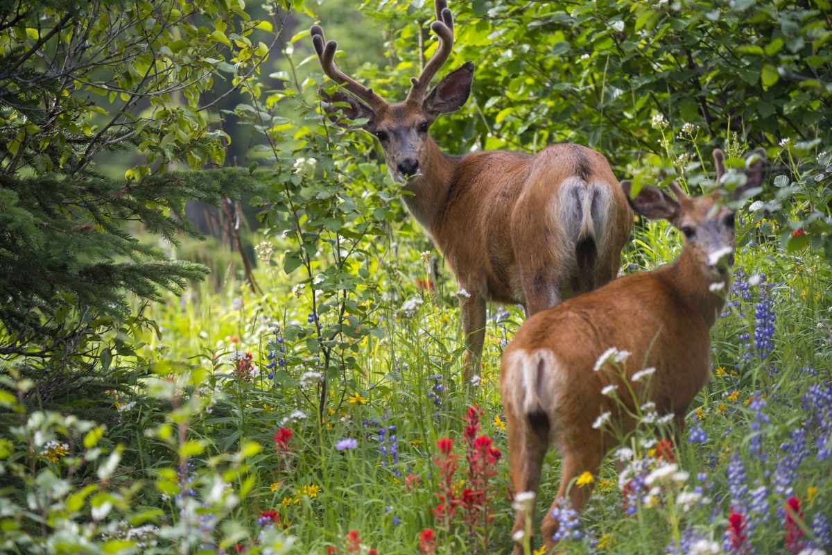
[[(513, 495), (531, 492), (537, 495), (543, 458), (549, 448), (549, 419), (546, 414), (536, 413), (515, 416), (506, 405), (508, 424), (508, 458), (511, 464)], [(531, 515), (534, 515), (535, 501), (532, 499)], [(526, 515), (518, 510), (512, 528), (512, 535), (526, 530)], [(530, 538), (531, 541), (531, 538)], [(522, 543), (514, 544), (515, 555), (522, 555)]]

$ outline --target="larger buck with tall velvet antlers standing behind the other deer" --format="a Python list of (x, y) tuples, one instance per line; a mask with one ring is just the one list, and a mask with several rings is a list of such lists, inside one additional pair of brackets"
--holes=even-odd
[(439, 150), (428, 129), (468, 100), (473, 63), (427, 92), (453, 50), (448, 4), (436, 0), (435, 7), (437, 51), (411, 79), (407, 99), (395, 104), (339, 70), (338, 45), (325, 41), (321, 27), (310, 32), (324, 73), (352, 95), (322, 97), (344, 107), (350, 120), (367, 120), (364, 128), (380, 141), (390, 175), (404, 182), (404, 204), (468, 292), (460, 295), (467, 382), (483, 350), (486, 301), (518, 303), (532, 315), (562, 296), (607, 283), (621, 264), (632, 212), (607, 160), (583, 146), (548, 146), (535, 156), (446, 156)]

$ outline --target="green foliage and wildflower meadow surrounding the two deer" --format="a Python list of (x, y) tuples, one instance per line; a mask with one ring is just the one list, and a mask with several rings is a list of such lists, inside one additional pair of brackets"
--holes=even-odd
[[(73, 105), (87, 134), (69, 128), (75, 120), (35, 129), (32, 107), (0, 107), (0, 279), (10, 307), (0, 312), (0, 553), (510, 552), (513, 503), (527, 500), (508, 491), (498, 370), (522, 310), (489, 307), (482, 372), (462, 384), (464, 293), (404, 212), (372, 137), (321, 116), (317, 89), (336, 87), (318, 72), (304, 31), (317, 7), (277, 2), (254, 17), (242, 2), (203, 3), (183, 21), (215, 27), (187, 27), (194, 34), (186, 40), (174, 32), (160, 52), (174, 59), (184, 47), (170, 42), (198, 48), (212, 37), (210, 52), (191, 53), (215, 62), (195, 67), (215, 72), (216, 82), (227, 78), (240, 103), (203, 112), (205, 91), (184, 100), (159, 93), (156, 111), (142, 112), (151, 123), (136, 131), (151, 134), (146, 144), (123, 141), (137, 156), (151, 154), (127, 181), (64, 171), (85, 149), (62, 162), (61, 141), (43, 143), (60, 132), (81, 144), (72, 141), (97, 137), (110, 116), (102, 122), (88, 105)], [(386, 56), (353, 67), (382, 94), (404, 90), (418, 67), (415, 33), (431, 17), (428, 3), (361, 7), (383, 29)], [(559, 509), (558, 551), (827, 553), (830, 5), (455, 4), (448, 67), (470, 59), (477, 73), (467, 107), (431, 130), (446, 151), (576, 141), (602, 151), (634, 187), (676, 177), (694, 192), (716, 186), (702, 163), (716, 146), (733, 168), (757, 147), (770, 160), (764, 190), (738, 211), (733, 285), (711, 332), (711, 380), (686, 414), (686, 431), (672, 442), (669, 424), (641, 407), (636, 433), (622, 438), (601, 475), (572, 485), (596, 493), (580, 515)], [(59, 2), (41, 9), (45, 27), (65, 17)], [(67, 19), (95, 17), (79, 10)], [(216, 27), (220, 16), (239, 24), (235, 32)], [(4, 14), (4, 68), (9, 59), (34, 63), (21, 60), (42, 32), (32, 21)], [(281, 41), (296, 34), (282, 49), (245, 43), (284, 27)], [(370, 40), (375, 52), (379, 38)], [(13, 99), (20, 84), (9, 85), (10, 76), (0, 73), (0, 93)], [(47, 85), (43, 94), (53, 92)], [(78, 82), (65, 97), (91, 91)], [(118, 97), (102, 94), (111, 114), (136, 108)], [(222, 163), (225, 151), (215, 147), (230, 135), (205, 132), (232, 116), (253, 137), (238, 160), (245, 169), (165, 181), (160, 162)], [(189, 122), (184, 136), (174, 131), (179, 121)], [(116, 128), (132, 123), (123, 125)], [(64, 196), (49, 206), (31, 193), (35, 179)], [(177, 184), (222, 201), (234, 196), (234, 179), (261, 209), (249, 237), (253, 280), (229, 266), (213, 269), (219, 286), (200, 283), (205, 270), (163, 261), (176, 258), (171, 243), (166, 252), (133, 252), (132, 220), (156, 222), (149, 231), (171, 240), (191, 233), (176, 221), (185, 200)], [(150, 192), (130, 196), (131, 187)], [(129, 198), (119, 208), (96, 210), (120, 191)], [(38, 227), (50, 218), (58, 230)], [(85, 233), (98, 234), (87, 251)], [(62, 235), (73, 245), (72, 268), (97, 271), (52, 280), (72, 270), (53, 263)], [(656, 268), (680, 248), (666, 223), (636, 221), (622, 273)], [(27, 255), (50, 263), (24, 265)], [(114, 264), (123, 279), (102, 278)], [(166, 278), (154, 277), (155, 265), (171, 269)], [(129, 285), (136, 272), (142, 287)], [(35, 288), (37, 302), (27, 304), (32, 283), (50, 287)], [(97, 302), (97, 287), (110, 295), (106, 303)], [(558, 481), (550, 453), (538, 510)], [(541, 543), (531, 538), (527, 552), (542, 553)]]

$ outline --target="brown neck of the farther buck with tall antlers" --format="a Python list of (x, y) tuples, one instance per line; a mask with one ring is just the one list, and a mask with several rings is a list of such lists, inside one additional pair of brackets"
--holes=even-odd
[(422, 173), (405, 184), (403, 196), (408, 211), (428, 233), (438, 225), (438, 217), (448, 201), (448, 191), (456, 180), (461, 156), (447, 156), (439, 150), (433, 137), (424, 144)]

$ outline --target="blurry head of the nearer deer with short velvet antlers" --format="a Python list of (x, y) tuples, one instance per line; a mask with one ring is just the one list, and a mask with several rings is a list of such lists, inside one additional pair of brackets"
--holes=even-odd
[[(725, 156), (720, 149), (714, 151), (716, 182), (725, 175)], [(756, 151), (746, 161), (745, 182), (731, 194), (738, 199), (744, 191), (760, 187), (765, 178), (765, 153)], [(630, 198), (630, 182), (622, 183)], [(685, 235), (685, 249), (690, 250), (703, 273), (712, 280), (726, 278), (734, 263), (735, 230), (734, 211), (723, 201), (719, 191), (711, 195), (691, 198), (676, 181), (671, 182), (673, 196), (655, 186), (644, 186), (636, 198), (630, 200), (634, 211), (650, 219), (670, 221)]]

